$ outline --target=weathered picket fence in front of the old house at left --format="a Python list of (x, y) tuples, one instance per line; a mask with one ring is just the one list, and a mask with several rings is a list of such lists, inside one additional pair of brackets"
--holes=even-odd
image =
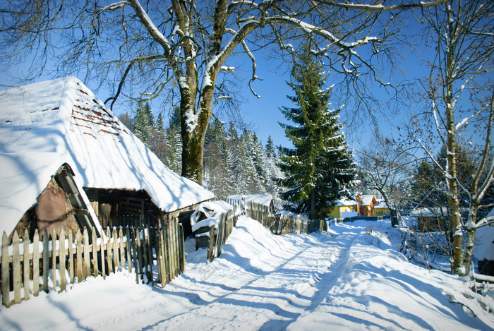
[[(91, 235), (90, 235), (91, 234)], [(163, 227), (119, 227), (106, 229), (106, 238), (97, 238), (94, 229), (84, 229), (75, 237), (71, 231), (35, 234), (12, 243), (4, 233), (1, 243), (1, 301), (6, 307), (38, 296), (40, 290), (64, 291), (67, 284), (83, 282), (90, 276), (106, 277), (125, 268), (135, 272), (135, 281), (147, 278), (154, 284), (157, 265), (162, 286), (185, 272), (183, 229), (177, 219)], [(155, 263), (156, 261), (156, 263)]]

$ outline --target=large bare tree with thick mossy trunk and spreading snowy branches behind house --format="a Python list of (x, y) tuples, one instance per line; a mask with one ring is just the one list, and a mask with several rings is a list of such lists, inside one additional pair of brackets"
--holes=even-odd
[[(384, 6), (323, 0), (3, 1), (2, 59), (30, 54), (35, 59), (32, 69), (39, 69), (50, 56), (59, 55), (59, 70), (83, 73), (86, 81), (110, 81), (111, 106), (122, 95), (146, 101), (164, 91), (167, 95), (178, 91), (182, 174), (202, 183), (212, 105), (232, 97), (227, 75), (234, 68), (227, 60), (234, 50), (251, 60), (248, 85), (253, 92), (258, 76), (251, 48), (277, 45), (284, 52), (296, 52), (296, 40), (303, 36), (310, 38), (315, 54), (327, 57), (332, 71), (344, 74), (348, 86), (360, 92), (366, 76), (389, 85), (379, 80), (375, 59), (387, 54), (384, 47), (393, 34), (393, 15), (445, 0), (404, 2)], [(380, 21), (385, 12), (392, 13)], [(366, 56), (357, 52), (366, 46)]]

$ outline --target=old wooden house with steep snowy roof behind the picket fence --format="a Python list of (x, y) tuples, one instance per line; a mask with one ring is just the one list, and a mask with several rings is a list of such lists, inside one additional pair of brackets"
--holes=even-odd
[[(88, 198), (88, 210), (103, 227), (119, 225), (116, 220), (124, 216), (188, 219), (200, 202), (214, 197), (168, 169), (73, 76), (1, 91), (0, 104), (1, 154), (21, 152), (37, 160), (39, 153), (52, 153), (54, 159), (48, 163), (63, 159), (61, 164), (70, 166), (81, 195)], [(23, 171), (25, 163), (19, 160), (13, 167)], [(35, 178), (26, 175), (25, 181)], [(36, 194), (46, 185), (40, 183)], [(18, 189), (22, 191), (22, 186)], [(36, 203), (37, 195), (28, 207)]]

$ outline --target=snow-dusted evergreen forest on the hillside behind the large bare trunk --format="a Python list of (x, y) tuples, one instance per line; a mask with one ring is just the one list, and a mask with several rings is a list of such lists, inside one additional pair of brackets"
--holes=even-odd
[[(138, 104), (135, 114), (121, 114), (120, 120), (176, 174), (181, 174), (181, 133), (179, 108), (167, 121), (155, 116), (150, 104)], [(207, 129), (204, 147), (203, 186), (226, 200), (231, 194), (270, 193), (281, 206), (277, 179), (282, 177), (277, 147), (271, 137), (264, 145), (247, 129), (241, 133), (234, 124), (213, 119)]]

